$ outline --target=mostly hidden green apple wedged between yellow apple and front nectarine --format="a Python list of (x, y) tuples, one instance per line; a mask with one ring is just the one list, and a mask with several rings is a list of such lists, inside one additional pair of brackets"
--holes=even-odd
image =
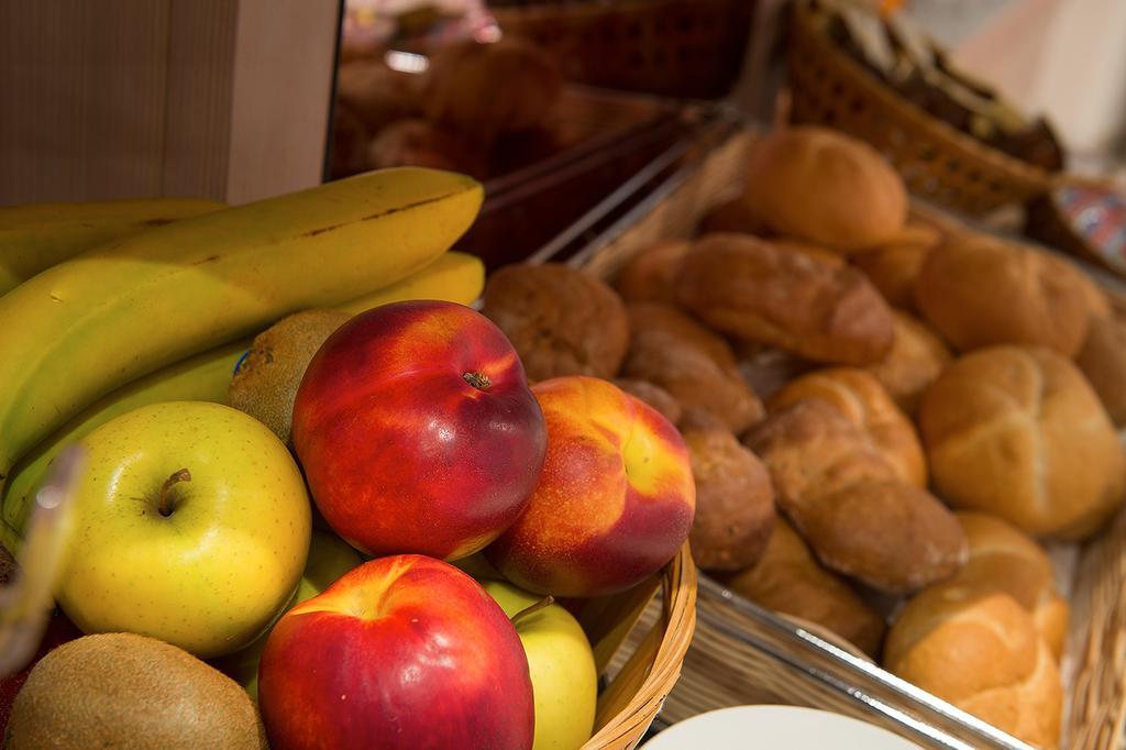
[[(309, 560), (305, 572), (297, 584), (297, 592), (285, 606), (289, 611), (302, 601), (312, 599), (352, 568), (364, 562), (351, 545), (332, 532), (313, 529), (313, 539), (309, 545)], [(226, 672), (227, 677), (245, 688), (254, 700), (258, 700), (258, 662), (262, 660), (262, 651), (269, 632), (262, 633), (257, 641), (241, 651), (227, 654), (215, 662), (215, 667)]]

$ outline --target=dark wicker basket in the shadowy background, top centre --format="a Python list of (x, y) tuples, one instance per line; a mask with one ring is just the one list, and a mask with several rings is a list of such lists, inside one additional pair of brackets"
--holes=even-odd
[(506, 34), (551, 51), (574, 81), (718, 99), (743, 64), (750, 0), (531, 2), (492, 8)]

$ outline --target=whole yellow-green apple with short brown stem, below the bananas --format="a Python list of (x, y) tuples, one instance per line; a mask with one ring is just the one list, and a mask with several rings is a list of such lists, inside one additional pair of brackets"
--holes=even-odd
[(150, 635), (209, 658), (243, 648), (297, 589), (309, 553), (301, 471), (229, 407), (141, 407), (84, 437), (59, 601), (86, 633)]

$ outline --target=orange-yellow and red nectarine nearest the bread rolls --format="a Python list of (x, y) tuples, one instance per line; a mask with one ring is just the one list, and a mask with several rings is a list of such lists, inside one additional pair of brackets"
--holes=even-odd
[(692, 526), (696, 486), (680, 432), (595, 377), (556, 377), (531, 391), (547, 420), (547, 458), (527, 510), (485, 557), (517, 586), (556, 597), (640, 583)]

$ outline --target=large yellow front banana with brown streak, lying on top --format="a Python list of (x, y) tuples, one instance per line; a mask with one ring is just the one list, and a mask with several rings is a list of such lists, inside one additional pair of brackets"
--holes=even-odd
[(87, 251), (0, 297), (0, 480), (124, 383), (437, 258), (481, 185), (404, 167), (187, 218)]

